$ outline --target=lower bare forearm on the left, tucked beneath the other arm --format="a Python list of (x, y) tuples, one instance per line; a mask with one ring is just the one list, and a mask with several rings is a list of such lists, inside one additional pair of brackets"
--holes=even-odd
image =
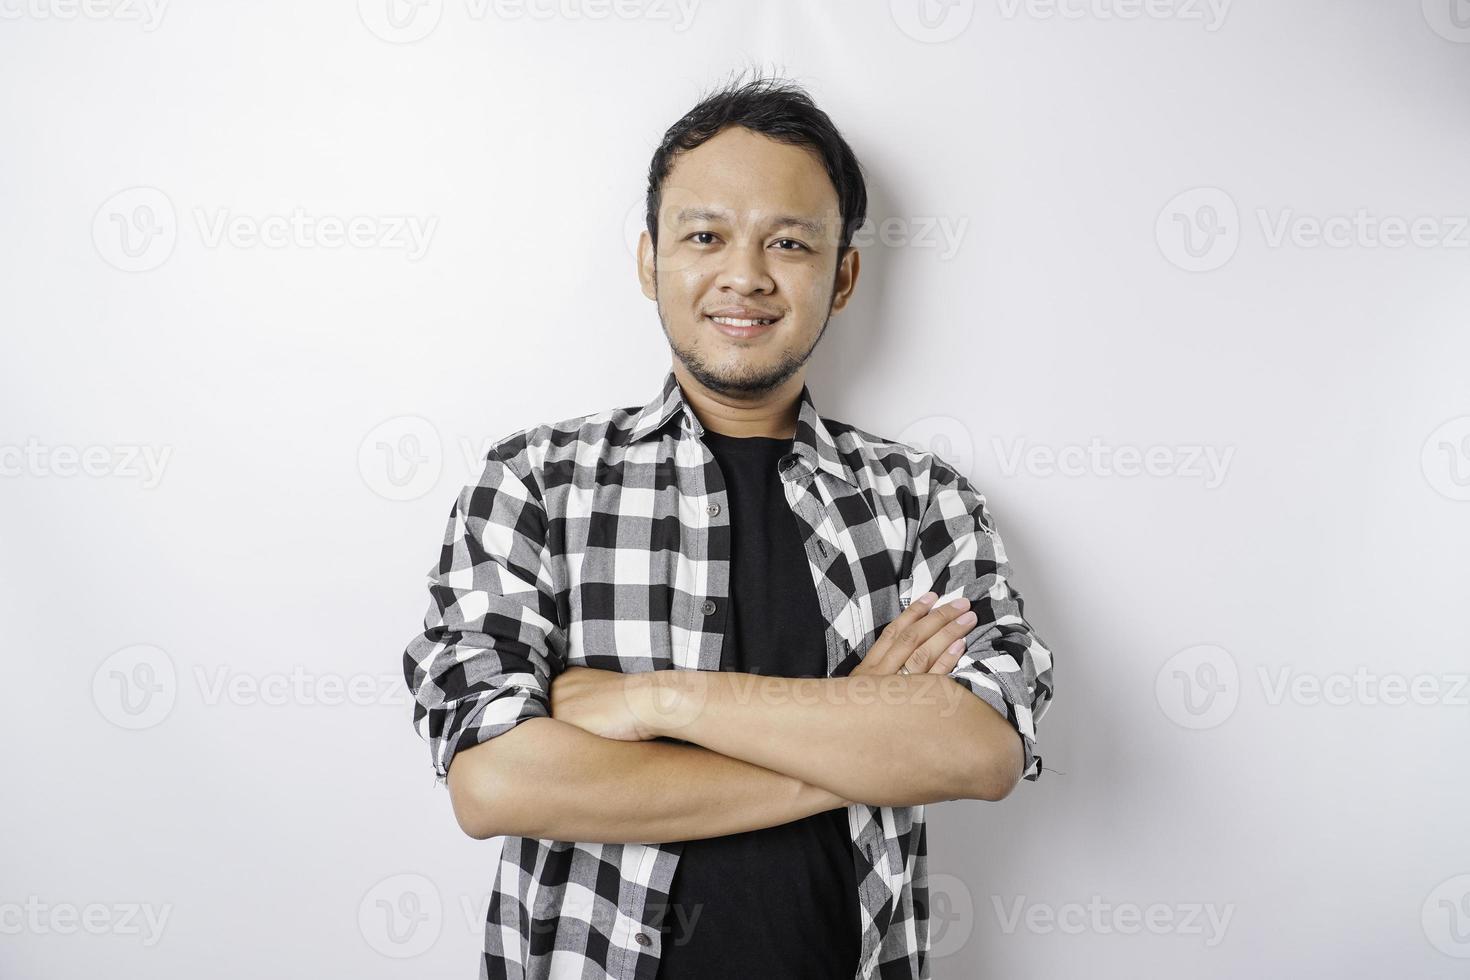
[(448, 782), (456, 818), (473, 837), (663, 843), (773, 827), (847, 802), (698, 745), (604, 739), (556, 718), (528, 718), (457, 752)]

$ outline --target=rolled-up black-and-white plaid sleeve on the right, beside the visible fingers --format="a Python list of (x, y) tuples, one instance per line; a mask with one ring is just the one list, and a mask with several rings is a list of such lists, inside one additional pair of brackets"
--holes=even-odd
[(1035, 782), (1036, 723), (1053, 692), (1051, 649), (1026, 621), (985, 495), (941, 458), (929, 458), (928, 502), (901, 591), (908, 599), (933, 591), (936, 607), (961, 595), (970, 599), (978, 619), (950, 676), (1010, 721), (1025, 748), (1022, 776)]

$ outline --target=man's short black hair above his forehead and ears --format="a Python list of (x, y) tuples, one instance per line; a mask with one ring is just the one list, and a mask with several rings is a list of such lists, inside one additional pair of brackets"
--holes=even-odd
[(659, 245), (659, 206), (663, 181), (681, 153), (714, 138), (729, 126), (744, 126), (772, 140), (814, 150), (822, 157), (832, 187), (836, 188), (842, 228), (838, 241), (838, 262), (847, 254), (856, 232), (867, 216), (867, 185), (863, 167), (847, 145), (847, 140), (832, 125), (832, 119), (817, 109), (804, 88), (788, 79), (757, 75), (748, 82), (732, 79), (710, 93), (669, 126), (648, 165), (648, 197), (644, 222), (648, 237)]

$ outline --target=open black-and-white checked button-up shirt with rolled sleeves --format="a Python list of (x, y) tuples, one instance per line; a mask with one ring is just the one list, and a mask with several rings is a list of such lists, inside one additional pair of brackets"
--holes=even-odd
[[(822, 419), (803, 386), (781, 461), (842, 676), (908, 599), (961, 594), (979, 617), (950, 676), (1020, 733), (1036, 721), (1051, 652), (1022, 616), (985, 497), (951, 466)], [(456, 751), (545, 717), (567, 666), (719, 670), (729, 599), (729, 507), (704, 429), (673, 370), (642, 407), (500, 439), (451, 508), (429, 570), (423, 632), (403, 655), (437, 783)], [(928, 979), (925, 808), (847, 808), (861, 908), (858, 980)], [(651, 980), (672, 843), (506, 837), (481, 977)]]

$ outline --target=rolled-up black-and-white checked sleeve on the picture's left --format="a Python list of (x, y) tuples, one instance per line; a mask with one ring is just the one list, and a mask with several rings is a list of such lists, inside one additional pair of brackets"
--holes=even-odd
[(441, 785), (456, 752), (548, 717), (564, 664), (544, 501), (498, 448), (454, 501), (423, 632), (403, 651), (413, 727)]

